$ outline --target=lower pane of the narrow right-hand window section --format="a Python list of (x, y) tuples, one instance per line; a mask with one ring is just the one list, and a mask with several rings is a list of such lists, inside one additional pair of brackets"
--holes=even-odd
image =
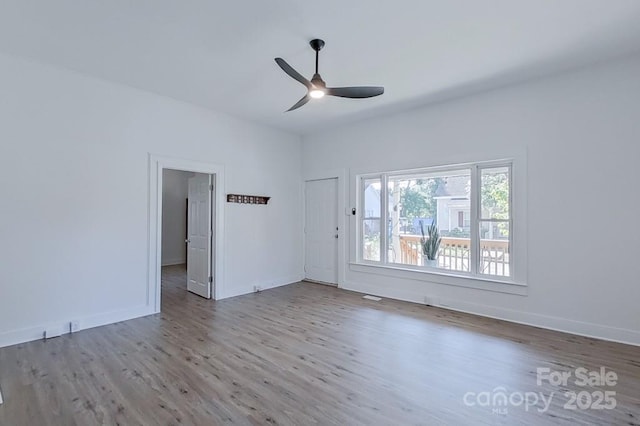
[(511, 276), (509, 268), (509, 222), (480, 222), (480, 267), (478, 272)]

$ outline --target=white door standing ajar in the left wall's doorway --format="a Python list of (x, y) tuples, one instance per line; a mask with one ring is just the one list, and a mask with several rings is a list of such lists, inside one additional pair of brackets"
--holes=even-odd
[(213, 179), (198, 174), (189, 178), (187, 208), (187, 290), (211, 299), (213, 274), (211, 270)]

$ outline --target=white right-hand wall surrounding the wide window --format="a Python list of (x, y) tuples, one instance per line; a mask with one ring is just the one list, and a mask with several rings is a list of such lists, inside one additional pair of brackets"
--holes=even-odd
[[(346, 259), (342, 287), (640, 344), (640, 56), (306, 136), (303, 170), (406, 169), (514, 151), (526, 151), (528, 164), (528, 295), (381, 275)], [(625, 202), (608, 209), (608, 199)], [(616, 226), (604, 226), (603, 240), (607, 223)]]

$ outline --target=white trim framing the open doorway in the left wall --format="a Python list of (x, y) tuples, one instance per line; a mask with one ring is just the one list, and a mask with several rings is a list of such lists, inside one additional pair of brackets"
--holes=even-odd
[(149, 228), (147, 306), (160, 312), (162, 292), (162, 170), (173, 169), (215, 175), (215, 220), (213, 241), (213, 298), (220, 299), (224, 287), (224, 166), (215, 163), (149, 154)]

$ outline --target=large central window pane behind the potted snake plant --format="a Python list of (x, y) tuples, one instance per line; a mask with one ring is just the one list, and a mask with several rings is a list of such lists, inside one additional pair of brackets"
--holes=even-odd
[[(389, 262), (469, 271), (470, 176), (464, 169), (389, 177)], [(441, 240), (428, 259), (421, 242), (432, 223)]]

